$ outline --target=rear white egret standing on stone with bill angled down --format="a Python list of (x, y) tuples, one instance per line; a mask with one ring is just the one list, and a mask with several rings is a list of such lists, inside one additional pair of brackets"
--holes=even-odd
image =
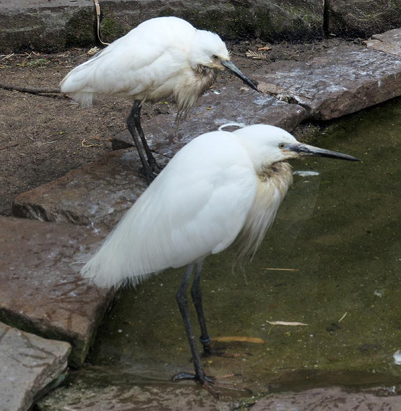
[(225, 69), (258, 90), (230, 62), (226, 45), (217, 34), (197, 30), (181, 18), (157, 17), (141, 23), (71, 70), (61, 81), (60, 88), (83, 107), (89, 107), (96, 94), (123, 97), (134, 102), (127, 127), (149, 184), (155, 177), (157, 164), (140, 124), (142, 104), (174, 95), (178, 122), (214, 83), (217, 71)]

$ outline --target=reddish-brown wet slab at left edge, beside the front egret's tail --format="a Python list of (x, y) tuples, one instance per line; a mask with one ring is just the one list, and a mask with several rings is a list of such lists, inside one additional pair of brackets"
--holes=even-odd
[(69, 342), (68, 362), (80, 365), (113, 296), (82, 279), (76, 260), (101, 236), (84, 227), (12, 217), (0, 217), (0, 227), (0, 321)]

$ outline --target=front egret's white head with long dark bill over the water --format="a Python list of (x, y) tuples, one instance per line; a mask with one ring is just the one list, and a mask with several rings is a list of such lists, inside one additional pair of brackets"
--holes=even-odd
[(318, 156), (359, 161), (347, 154), (300, 143), (294, 136), (279, 127), (255, 124), (233, 132), (247, 148), (256, 169), (291, 158)]

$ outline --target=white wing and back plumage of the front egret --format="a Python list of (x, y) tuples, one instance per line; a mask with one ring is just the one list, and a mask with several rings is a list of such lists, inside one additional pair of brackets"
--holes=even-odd
[(100, 286), (137, 283), (228, 247), (256, 192), (253, 166), (226, 132), (207, 133), (170, 161), (122, 218), (83, 275)]

